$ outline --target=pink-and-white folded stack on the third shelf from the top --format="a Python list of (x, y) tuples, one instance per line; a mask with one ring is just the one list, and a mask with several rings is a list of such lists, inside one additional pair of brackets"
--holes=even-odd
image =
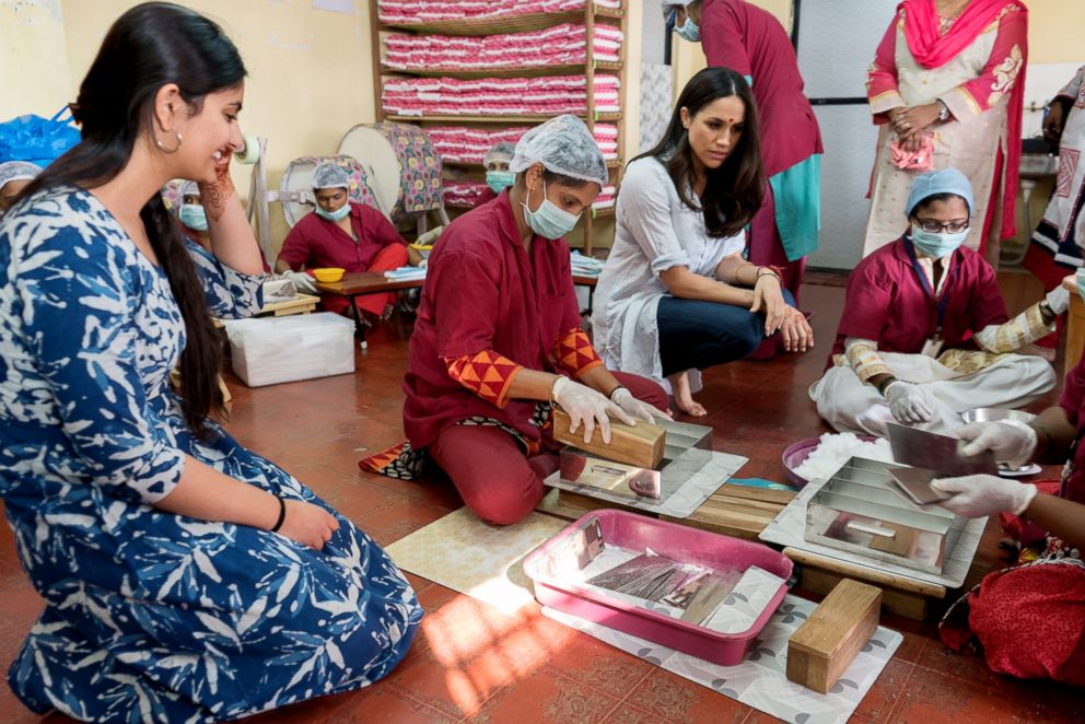
[[(596, 113), (618, 113), (617, 75), (595, 77)], [(587, 112), (584, 75), (544, 78), (386, 78), (385, 113), (401, 116), (557, 116)]]

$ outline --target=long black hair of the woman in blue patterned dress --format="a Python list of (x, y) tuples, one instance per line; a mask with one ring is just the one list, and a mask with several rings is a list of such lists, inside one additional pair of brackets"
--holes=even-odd
[[(162, 86), (176, 83), (191, 112), (199, 113), (206, 95), (234, 87), (245, 75), (237, 48), (214, 22), (168, 2), (132, 8), (109, 28), (71, 106), (82, 142), (50, 164), (23, 196), (60, 186), (95, 188), (115, 178), (140, 133), (150, 132)], [(202, 434), (208, 414), (222, 407), (220, 338), (161, 195), (151, 197), (140, 218), (185, 320), (182, 409), (189, 429)]]

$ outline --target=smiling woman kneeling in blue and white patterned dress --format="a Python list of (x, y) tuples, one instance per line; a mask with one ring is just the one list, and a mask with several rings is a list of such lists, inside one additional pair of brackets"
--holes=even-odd
[[(421, 618), (376, 544), (208, 418), (207, 300), (249, 314), (264, 279), (231, 232), (244, 75), (201, 15), (129, 10), (80, 87), (82, 143), (0, 224), (0, 495), (46, 600), (9, 681), (35, 712), (237, 719), (385, 676)], [(174, 177), (202, 185), (198, 264)]]

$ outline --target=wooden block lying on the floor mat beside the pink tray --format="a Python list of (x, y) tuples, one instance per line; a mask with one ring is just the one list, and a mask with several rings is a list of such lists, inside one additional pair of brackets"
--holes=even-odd
[(878, 628), (882, 592), (844, 579), (788, 640), (788, 679), (828, 693)]

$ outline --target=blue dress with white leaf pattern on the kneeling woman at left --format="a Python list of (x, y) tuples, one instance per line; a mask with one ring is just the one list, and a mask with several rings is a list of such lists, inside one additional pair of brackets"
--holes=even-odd
[[(212, 313), (260, 305), (262, 277), (194, 249)], [(0, 497), (46, 599), (9, 672), (33, 711), (226, 720), (364, 687), (422, 611), (341, 516), (323, 551), (161, 512), (191, 455), (324, 505), (220, 428), (195, 439), (170, 388), (185, 343), (165, 273), (91, 194), (45, 191), (0, 224)]]

